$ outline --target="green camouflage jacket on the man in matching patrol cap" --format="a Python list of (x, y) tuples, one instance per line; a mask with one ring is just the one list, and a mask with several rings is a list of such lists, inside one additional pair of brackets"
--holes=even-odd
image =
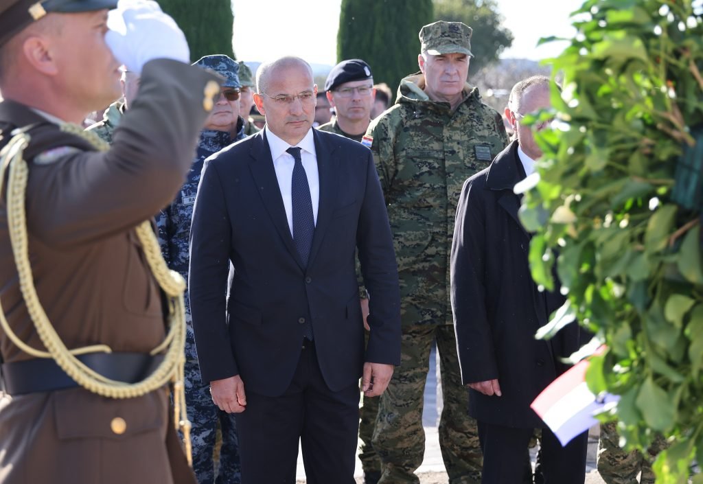
[(386, 199), (404, 325), (453, 323), (449, 257), (461, 187), (508, 145), (501, 115), (482, 103), (478, 89), (467, 85), (451, 110), (431, 101), (424, 86), (422, 74), (403, 79), (396, 104), (363, 139)]

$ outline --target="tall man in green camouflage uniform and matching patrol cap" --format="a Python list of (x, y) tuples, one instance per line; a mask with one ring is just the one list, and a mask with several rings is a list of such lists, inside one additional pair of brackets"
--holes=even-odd
[(401, 284), (401, 367), (380, 397), (373, 448), (379, 483), (419, 483), (423, 390), (433, 341), (444, 409), (439, 443), (450, 484), (481, 481), (476, 423), (467, 414), (450, 303), (449, 258), (465, 179), (507, 144), (501, 116), (466, 84), (471, 28), (439, 21), (420, 30), (420, 71), (401, 81), (392, 108), (371, 122), (363, 144), (377, 163), (393, 230)]

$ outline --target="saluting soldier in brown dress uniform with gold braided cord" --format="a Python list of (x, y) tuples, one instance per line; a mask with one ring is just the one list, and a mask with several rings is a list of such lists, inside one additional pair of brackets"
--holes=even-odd
[[(184, 281), (150, 218), (183, 184), (220, 78), (188, 65), (155, 2), (122, 1), (116, 30), (114, 0), (0, 3), (5, 484), (195, 483), (167, 387)], [(79, 123), (120, 96), (121, 64), (141, 89), (108, 148)]]

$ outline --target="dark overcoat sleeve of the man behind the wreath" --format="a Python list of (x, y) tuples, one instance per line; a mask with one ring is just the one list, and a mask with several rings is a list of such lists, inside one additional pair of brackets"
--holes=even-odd
[(486, 308), (485, 179), (481, 172), (465, 182), (451, 247), (451, 307), (464, 384), (499, 378)]

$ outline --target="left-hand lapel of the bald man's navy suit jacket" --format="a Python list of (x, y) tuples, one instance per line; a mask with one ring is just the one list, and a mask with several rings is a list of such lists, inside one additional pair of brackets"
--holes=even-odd
[(266, 141), (264, 131), (256, 134), (252, 150), (250, 152), (252, 160), (249, 167), (254, 177), (254, 183), (257, 184), (257, 191), (264, 202), (266, 210), (269, 212), (271, 221), (278, 231), (278, 234), (283, 238), (285, 247), (295, 259), (295, 262), (302, 267), (302, 261), (298, 255), (298, 251), (293, 243), (293, 238), (290, 235), (290, 227), (288, 227), (288, 217), (285, 215), (283, 206), (283, 197), (280, 196), (280, 187), (278, 186), (278, 178), (276, 177), (276, 169), (273, 167), (273, 159), (271, 159), (271, 149)]

